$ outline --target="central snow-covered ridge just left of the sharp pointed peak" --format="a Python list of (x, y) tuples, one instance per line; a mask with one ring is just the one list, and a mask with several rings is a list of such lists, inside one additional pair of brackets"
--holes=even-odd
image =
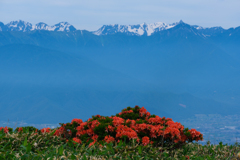
[(152, 35), (154, 32), (166, 30), (176, 26), (178, 23), (173, 24), (166, 24), (163, 22), (156, 22), (156, 23), (142, 23), (138, 25), (119, 25), (119, 24), (112, 24), (112, 25), (104, 25), (99, 28), (97, 31), (94, 31), (93, 34), (95, 35), (107, 35), (107, 34), (114, 34), (114, 33), (127, 33), (129, 35), (144, 35), (147, 36)]

